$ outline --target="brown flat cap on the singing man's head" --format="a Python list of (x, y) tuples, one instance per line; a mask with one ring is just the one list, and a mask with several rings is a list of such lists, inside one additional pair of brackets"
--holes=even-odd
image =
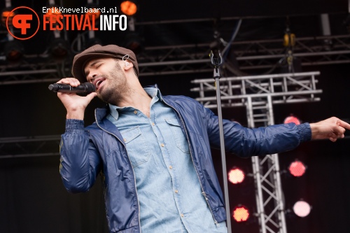
[(85, 64), (95, 57), (116, 57), (118, 59), (129, 60), (134, 65), (136, 75), (139, 76), (139, 65), (137, 64), (134, 52), (117, 45), (93, 45), (75, 55), (71, 68), (73, 76), (79, 80), (84, 80), (86, 78), (84, 72)]

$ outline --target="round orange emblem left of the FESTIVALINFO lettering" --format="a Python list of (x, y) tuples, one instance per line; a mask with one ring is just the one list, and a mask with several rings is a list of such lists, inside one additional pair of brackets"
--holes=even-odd
[[(12, 19), (13, 27), (20, 29), (21, 36), (15, 36), (8, 27), (8, 17), (10, 17), (10, 15), (15, 10), (21, 10), (22, 12), (24, 12), (24, 13), (16, 14), (15, 16), (13, 16), (13, 19)], [(35, 20), (35, 17), (33, 17), (33, 15), (36, 16), (37, 21)], [(6, 19), (6, 27), (7, 27), (8, 33), (14, 38), (17, 38), (19, 40), (27, 40), (33, 37), (38, 32), (38, 29), (40, 26), (40, 20), (39, 20), (38, 14), (33, 9), (27, 6), (19, 6), (18, 8), (13, 9), (8, 14), (8, 17)], [(36, 24), (37, 24), (37, 27), (35, 29)], [(29, 34), (29, 31), (27, 31), (27, 29), (34, 29), (35, 32), (32, 34)]]

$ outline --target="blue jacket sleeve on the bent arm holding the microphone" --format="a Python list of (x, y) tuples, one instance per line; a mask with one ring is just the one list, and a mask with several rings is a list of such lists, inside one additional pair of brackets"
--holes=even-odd
[(90, 190), (101, 169), (101, 158), (84, 129), (83, 120), (66, 120), (59, 153), (59, 173), (66, 190), (73, 193)]

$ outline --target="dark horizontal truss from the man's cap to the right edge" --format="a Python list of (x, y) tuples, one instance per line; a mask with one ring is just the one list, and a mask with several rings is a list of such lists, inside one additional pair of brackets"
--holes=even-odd
[[(141, 76), (212, 71), (209, 43), (146, 48), (138, 56)], [(276, 69), (286, 66), (288, 50), (300, 59), (302, 66), (350, 62), (350, 36), (318, 36), (296, 38), (292, 48), (283, 47), (283, 40), (236, 41), (231, 52), (235, 69)], [(228, 66), (228, 64), (227, 64)]]

